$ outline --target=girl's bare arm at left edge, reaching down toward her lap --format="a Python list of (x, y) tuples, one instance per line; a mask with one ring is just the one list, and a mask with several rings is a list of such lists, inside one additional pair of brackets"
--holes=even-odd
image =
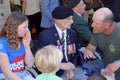
[(8, 56), (2, 52), (0, 52), (0, 68), (8, 80), (22, 80), (11, 71)]

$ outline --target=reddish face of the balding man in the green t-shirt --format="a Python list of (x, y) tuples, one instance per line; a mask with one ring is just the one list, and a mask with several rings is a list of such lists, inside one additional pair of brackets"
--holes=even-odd
[(93, 33), (104, 33), (107, 29), (106, 24), (103, 22), (104, 18), (94, 14), (92, 18), (93, 22), (91, 27), (93, 28)]

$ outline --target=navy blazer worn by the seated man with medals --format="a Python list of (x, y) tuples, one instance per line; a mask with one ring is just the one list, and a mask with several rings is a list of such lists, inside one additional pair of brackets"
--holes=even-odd
[[(77, 43), (77, 34), (76, 34), (76, 32), (74, 30), (72, 30), (72, 29), (67, 29), (66, 40), (67, 40), (67, 48), (70, 45), (74, 45), (74, 44), (77, 45), (78, 43)], [(47, 29), (46, 31), (41, 32), (39, 34), (39, 41), (40, 41), (40, 48), (42, 48), (42, 47), (44, 47), (46, 45), (49, 45), (49, 44), (59, 46), (58, 42), (60, 42), (60, 38), (59, 38), (59, 34), (58, 34), (55, 26)], [(68, 51), (68, 49), (67, 49), (67, 51)], [(76, 54), (67, 54), (67, 56), (68, 56), (68, 61), (72, 62), (73, 64), (76, 65), (76, 62), (77, 62), (76, 61), (77, 60)], [(67, 62), (66, 59), (65, 59), (64, 52), (63, 52), (63, 60), (62, 60), (62, 62)], [(61, 76), (63, 74), (63, 72), (64, 71), (60, 70), (60, 71), (58, 71), (57, 75)]]

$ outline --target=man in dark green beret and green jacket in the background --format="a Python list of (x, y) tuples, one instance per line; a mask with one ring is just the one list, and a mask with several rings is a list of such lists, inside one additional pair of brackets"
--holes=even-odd
[(85, 6), (83, 0), (69, 0), (68, 2), (68, 7), (74, 11), (72, 28), (78, 33), (79, 41), (84, 42), (82, 46), (86, 46), (92, 36), (90, 26), (88, 26), (88, 23), (82, 17), (85, 12)]

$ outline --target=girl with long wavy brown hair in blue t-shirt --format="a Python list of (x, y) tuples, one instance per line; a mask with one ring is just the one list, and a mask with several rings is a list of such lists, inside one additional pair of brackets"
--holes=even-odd
[(12, 12), (0, 31), (0, 80), (34, 80), (25, 70), (34, 64), (28, 22), (27, 16)]

